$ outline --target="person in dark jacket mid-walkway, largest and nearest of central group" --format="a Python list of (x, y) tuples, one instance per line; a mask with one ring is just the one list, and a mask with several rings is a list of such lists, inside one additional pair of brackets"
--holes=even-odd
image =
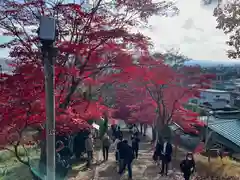
[(120, 152), (123, 152), (123, 164), (119, 170), (119, 174), (122, 175), (126, 167), (128, 169), (128, 179), (132, 179), (132, 161), (134, 159), (134, 154), (132, 147), (128, 145), (128, 141), (124, 140)]

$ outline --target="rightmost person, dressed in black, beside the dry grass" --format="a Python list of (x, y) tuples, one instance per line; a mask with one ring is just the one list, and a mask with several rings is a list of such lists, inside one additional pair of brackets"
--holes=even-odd
[(189, 180), (195, 171), (195, 161), (192, 153), (187, 153), (186, 159), (180, 163), (180, 169), (183, 172), (184, 179)]

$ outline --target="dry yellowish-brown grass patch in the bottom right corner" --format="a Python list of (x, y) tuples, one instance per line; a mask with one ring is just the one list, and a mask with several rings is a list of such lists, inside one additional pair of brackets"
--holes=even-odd
[(211, 158), (208, 162), (208, 158), (202, 155), (195, 156), (197, 171), (201, 175), (206, 176), (235, 176), (240, 177), (240, 163), (236, 162), (229, 157)]

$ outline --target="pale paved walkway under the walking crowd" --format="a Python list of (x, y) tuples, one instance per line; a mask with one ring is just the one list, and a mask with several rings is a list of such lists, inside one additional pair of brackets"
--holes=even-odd
[[(127, 132), (124, 133), (125, 138), (129, 138), (129, 134)], [(160, 167), (156, 166), (152, 161), (151, 151), (152, 145), (150, 144), (147, 138), (142, 137), (140, 143), (140, 152), (139, 158), (134, 160), (133, 162), (133, 179), (134, 180), (181, 180), (179, 178), (180, 173), (174, 168), (170, 167), (169, 176), (161, 177), (158, 172), (160, 171)], [(173, 162), (173, 164), (175, 164)], [(76, 172), (71, 173), (72, 177), (70, 180), (127, 180), (127, 172), (120, 177), (117, 173), (117, 165), (115, 162), (114, 153), (111, 152), (109, 154), (109, 160), (107, 162), (103, 162), (100, 165), (93, 164), (92, 168), (87, 171), (79, 171), (79, 168), (75, 168)], [(74, 172), (74, 170), (73, 170)]]

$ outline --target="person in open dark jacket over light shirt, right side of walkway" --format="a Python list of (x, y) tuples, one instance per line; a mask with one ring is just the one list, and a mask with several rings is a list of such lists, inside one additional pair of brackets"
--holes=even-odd
[(172, 144), (168, 142), (167, 139), (164, 139), (163, 146), (161, 147), (161, 160), (162, 160), (162, 169), (161, 175), (168, 175), (168, 165), (172, 160)]

